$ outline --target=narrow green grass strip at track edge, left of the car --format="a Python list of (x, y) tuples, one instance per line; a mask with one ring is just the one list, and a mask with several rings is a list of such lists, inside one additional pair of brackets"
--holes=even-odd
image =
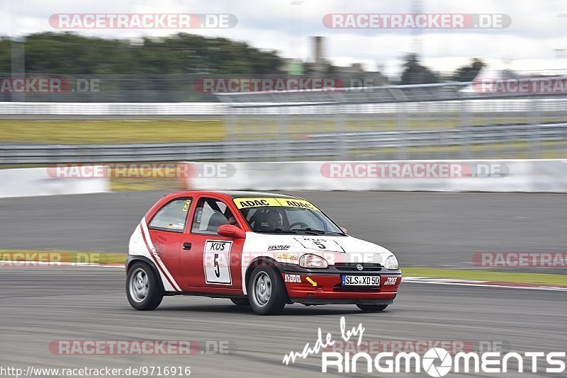
[[(44, 263), (90, 263), (90, 264), (123, 264), (125, 253), (81, 252), (81, 251), (28, 251), (0, 250), (0, 262), (17, 264), (18, 261), (35, 261)], [(1, 263), (0, 263), (1, 264)]]

